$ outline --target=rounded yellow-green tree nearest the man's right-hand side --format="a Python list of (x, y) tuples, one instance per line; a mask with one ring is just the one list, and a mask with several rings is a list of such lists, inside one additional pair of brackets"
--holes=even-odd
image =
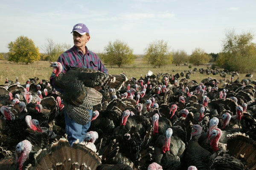
[(102, 55), (105, 63), (117, 65), (119, 68), (123, 64), (134, 63), (133, 49), (120, 40), (116, 40), (113, 43), (108, 42), (108, 45), (105, 46), (105, 51)]

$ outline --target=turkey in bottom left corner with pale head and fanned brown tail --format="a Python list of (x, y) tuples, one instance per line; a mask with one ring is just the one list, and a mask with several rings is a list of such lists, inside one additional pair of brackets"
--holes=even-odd
[[(30, 154), (32, 147), (29, 141), (21, 141), (16, 147), (17, 153), (20, 153), (20, 156), (17, 154), (18, 162), (6, 158), (9, 161), (13, 161), (10, 164), (10, 162), (6, 162), (6, 159), (3, 159), (0, 162), (0, 169), (16, 170), (18, 164), (19, 170), (25, 168), (27, 170), (48, 170), (51, 168), (96, 170), (96, 167), (101, 163), (101, 158), (88, 148), (85, 143), (79, 144), (76, 142), (70, 147), (65, 138), (61, 138), (51, 146), (41, 149), (35, 154), (35, 158)], [(3, 161), (6, 163), (3, 163)]]

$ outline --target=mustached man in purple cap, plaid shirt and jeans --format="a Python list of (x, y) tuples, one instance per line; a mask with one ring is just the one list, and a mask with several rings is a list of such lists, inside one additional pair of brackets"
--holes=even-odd
[[(101, 72), (108, 74), (108, 70), (102, 64), (98, 56), (88, 50), (86, 43), (90, 40), (89, 29), (83, 23), (78, 23), (73, 27), (71, 32), (73, 34), (74, 46), (62, 53), (57, 61), (60, 62), (63, 66), (63, 72), (65, 73), (69, 69), (76, 67), (96, 69)], [(55, 75), (52, 73), (50, 77), (50, 82), (53, 87), (59, 92), (62, 92), (61, 89), (58, 89), (54, 84)], [(91, 118), (92, 110), (88, 110)], [(73, 145), (73, 142), (79, 139), (79, 142), (84, 141), (84, 136), (87, 133), (87, 130), (90, 127), (90, 122), (81, 125), (76, 123), (72, 118), (67, 115), (65, 110), (65, 123), (66, 123), (66, 133), (67, 139), (70, 143), (70, 146)]]

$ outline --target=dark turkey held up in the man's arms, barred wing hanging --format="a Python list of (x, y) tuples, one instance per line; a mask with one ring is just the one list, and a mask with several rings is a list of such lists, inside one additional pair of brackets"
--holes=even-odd
[(87, 68), (74, 68), (63, 73), (62, 65), (58, 62), (51, 62), (50, 66), (53, 67), (55, 74), (51, 83), (63, 89), (63, 102), (67, 115), (82, 125), (90, 121), (88, 109), (102, 100), (102, 94), (96, 89), (105, 85), (120, 89), (127, 80), (125, 75), (112, 76)]

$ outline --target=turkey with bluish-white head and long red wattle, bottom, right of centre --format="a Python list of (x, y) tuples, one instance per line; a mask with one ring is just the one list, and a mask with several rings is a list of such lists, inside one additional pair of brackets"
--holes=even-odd
[(183, 153), (187, 145), (189, 127), (193, 120), (193, 114), (186, 118), (178, 119), (175, 124), (166, 130), (165, 135), (159, 135), (154, 144), (153, 161), (160, 164), (166, 170), (181, 170), (184, 164)]

